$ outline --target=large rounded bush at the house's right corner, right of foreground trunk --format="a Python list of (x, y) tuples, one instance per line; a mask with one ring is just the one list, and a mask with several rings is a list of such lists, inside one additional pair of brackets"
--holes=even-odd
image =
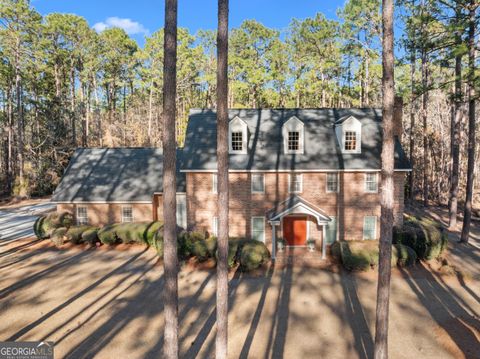
[(401, 228), (395, 228), (393, 242), (413, 248), (419, 259), (435, 259), (447, 248), (447, 234), (441, 223), (409, 216)]

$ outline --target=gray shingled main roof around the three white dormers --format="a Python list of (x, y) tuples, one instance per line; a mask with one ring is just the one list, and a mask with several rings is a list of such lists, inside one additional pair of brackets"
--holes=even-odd
[[(240, 117), (248, 125), (248, 154), (230, 154), (232, 170), (362, 170), (380, 169), (382, 112), (353, 109), (231, 109), (229, 118)], [(282, 125), (296, 116), (305, 125), (303, 154), (284, 154)], [(362, 123), (362, 151), (342, 154), (335, 123), (354, 116)], [(184, 170), (216, 170), (216, 112), (192, 110), (183, 149)], [(410, 169), (398, 139), (395, 168)]]

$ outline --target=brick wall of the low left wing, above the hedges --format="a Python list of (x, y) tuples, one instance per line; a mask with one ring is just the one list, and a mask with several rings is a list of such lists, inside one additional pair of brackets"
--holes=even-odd
[(121, 222), (122, 206), (125, 205), (132, 206), (133, 220), (135, 222), (151, 221), (153, 219), (151, 203), (59, 203), (57, 204), (57, 211), (68, 211), (75, 218), (77, 206), (86, 206), (89, 224), (92, 226), (103, 226), (109, 223)]

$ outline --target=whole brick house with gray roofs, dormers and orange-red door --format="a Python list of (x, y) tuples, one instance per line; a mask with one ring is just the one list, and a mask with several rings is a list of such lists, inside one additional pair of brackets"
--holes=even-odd
[[(396, 102), (395, 224), (402, 222), (401, 101)], [(382, 113), (379, 109), (229, 111), (230, 236), (315, 243), (379, 238)], [(178, 150), (177, 221), (217, 232), (216, 113), (192, 110)], [(162, 217), (159, 149), (79, 149), (52, 201), (80, 223)]]

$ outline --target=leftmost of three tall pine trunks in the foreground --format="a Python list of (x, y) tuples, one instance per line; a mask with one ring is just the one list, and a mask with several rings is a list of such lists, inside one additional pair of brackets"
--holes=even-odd
[(178, 358), (178, 259), (176, 219), (177, 0), (165, 1), (163, 62), (163, 216), (165, 270), (164, 357)]

